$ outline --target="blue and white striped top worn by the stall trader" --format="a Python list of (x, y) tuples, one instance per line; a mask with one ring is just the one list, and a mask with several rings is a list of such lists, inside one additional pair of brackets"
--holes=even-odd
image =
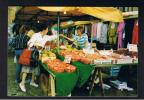
[(88, 42), (88, 36), (87, 34), (82, 34), (82, 36), (76, 35), (74, 37), (74, 40), (78, 43), (78, 46), (82, 49), (85, 47), (85, 44)]

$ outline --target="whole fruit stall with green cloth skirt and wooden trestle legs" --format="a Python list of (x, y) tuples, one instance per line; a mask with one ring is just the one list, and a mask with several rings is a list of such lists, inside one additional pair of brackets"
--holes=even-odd
[[(70, 60), (67, 61), (67, 58)], [(104, 96), (101, 70), (105, 67), (133, 66), (137, 63), (137, 52), (125, 48), (118, 50), (77, 50), (70, 48), (70, 45), (62, 45), (60, 48), (56, 47), (51, 51), (44, 50), (42, 52), (41, 82), (44, 85), (45, 94), (68, 96), (74, 87), (82, 87), (90, 75), (93, 75), (89, 95), (92, 93), (95, 79), (99, 78), (101, 95)]]

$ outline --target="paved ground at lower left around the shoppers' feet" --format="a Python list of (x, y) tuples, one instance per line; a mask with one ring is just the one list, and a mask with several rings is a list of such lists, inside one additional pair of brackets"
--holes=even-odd
[(15, 64), (13, 63), (13, 57), (8, 57), (8, 96), (42, 96), (41, 89), (26, 84), (27, 92), (21, 92), (18, 84), (15, 83)]

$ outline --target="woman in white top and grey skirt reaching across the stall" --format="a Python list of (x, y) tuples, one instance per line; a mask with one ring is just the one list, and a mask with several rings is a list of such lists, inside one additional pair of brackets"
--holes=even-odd
[[(39, 28), (40, 28), (40, 32), (34, 33), (27, 44), (29, 48), (36, 48), (40, 52), (42, 48), (44, 48), (45, 43), (47, 41), (52, 41), (56, 39), (57, 35), (56, 34), (53, 34), (50, 36), (47, 35), (48, 27), (46, 24), (41, 24)], [(25, 80), (26, 80), (28, 73), (32, 73), (30, 85), (34, 87), (38, 87), (38, 84), (35, 83), (35, 76), (36, 75), (38, 76), (38, 70), (39, 70), (38, 66), (37, 67), (36, 66), (33, 66), (33, 67), (24, 66), (22, 68), (22, 72), (23, 72), (22, 81), (20, 82), (19, 86), (23, 92), (26, 92)]]

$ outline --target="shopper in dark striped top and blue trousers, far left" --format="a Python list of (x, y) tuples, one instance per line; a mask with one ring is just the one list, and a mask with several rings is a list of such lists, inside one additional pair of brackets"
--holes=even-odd
[(20, 54), (22, 53), (23, 49), (27, 48), (27, 42), (29, 41), (29, 37), (26, 35), (29, 31), (29, 27), (26, 25), (22, 25), (19, 34), (16, 34), (12, 42), (10, 43), (10, 46), (15, 49), (15, 56), (16, 56), (16, 77), (15, 81), (16, 83), (20, 82), (20, 73), (22, 65), (18, 64), (18, 60), (20, 57)]

